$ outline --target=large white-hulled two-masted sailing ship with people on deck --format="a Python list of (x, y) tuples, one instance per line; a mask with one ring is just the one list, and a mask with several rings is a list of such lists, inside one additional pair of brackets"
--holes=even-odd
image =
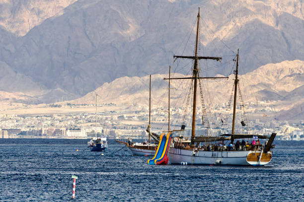
[[(200, 77), (199, 76), (199, 60), (215, 60), (221, 61), (222, 57), (202, 57), (198, 56), (198, 40), (199, 40), (199, 21), (200, 21), (200, 9), (197, 16), (197, 30), (196, 30), (196, 42), (195, 42), (195, 55), (194, 56), (173, 56), (176, 59), (190, 59), (193, 60), (193, 69), (191, 77), (184, 78), (164, 78), (164, 79), (192, 79), (193, 81), (193, 97), (192, 106), (192, 128), (191, 138), (185, 139), (182, 136), (175, 136), (170, 144), (168, 151), (168, 159), (171, 164), (182, 165), (254, 165), (263, 166), (269, 163), (272, 159), (273, 140), (276, 134), (272, 134), (270, 138), (267, 135), (250, 135), (250, 134), (236, 134), (235, 128), (235, 109), (237, 99), (238, 88), (238, 51), (236, 55), (236, 69), (234, 70), (234, 100), (233, 100), (233, 117), (232, 117), (232, 130), (231, 134), (223, 134), (219, 136), (201, 135), (195, 134), (195, 121), (196, 121), (196, 109), (197, 109), (197, 88), (201, 88), (200, 79), (216, 79), (216, 78), (228, 78), (228, 77)], [(201, 89), (200, 89), (201, 90)], [(232, 94), (231, 94), (232, 95)], [(201, 92), (202, 97), (202, 92)], [(231, 96), (232, 99), (232, 96)], [(203, 104), (202, 104), (203, 105)], [(203, 119), (203, 117), (202, 117)], [(245, 123), (241, 122), (242, 126)], [(182, 125), (181, 130), (185, 129), (185, 125)], [(249, 139), (259, 138), (267, 139), (264, 145), (240, 145), (239, 141), (234, 144), (236, 139)], [(228, 142), (226, 146), (224, 142)], [(212, 146), (200, 148), (202, 143), (207, 143)], [(211, 144), (213, 143), (213, 144)], [(253, 143), (254, 144), (254, 143)]]

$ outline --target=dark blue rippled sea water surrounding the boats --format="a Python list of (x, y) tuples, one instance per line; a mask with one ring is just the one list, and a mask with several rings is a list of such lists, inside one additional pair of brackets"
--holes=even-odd
[(0, 201), (304, 201), (304, 141), (276, 141), (264, 167), (154, 166), (113, 140), (104, 155), (86, 141), (0, 139)]

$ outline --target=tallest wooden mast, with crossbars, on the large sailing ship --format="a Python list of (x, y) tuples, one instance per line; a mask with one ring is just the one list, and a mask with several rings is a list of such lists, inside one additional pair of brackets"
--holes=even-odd
[[(196, 30), (195, 56), (194, 56), (194, 68), (193, 68), (194, 92), (193, 92), (193, 111), (192, 111), (191, 137), (195, 137), (196, 91), (197, 91), (197, 74), (198, 74), (197, 45), (198, 45), (198, 37), (199, 37), (199, 24), (200, 24), (200, 8), (199, 8), (199, 13), (197, 15), (197, 30)], [(193, 146), (192, 142), (191, 142), (191, 145)]]

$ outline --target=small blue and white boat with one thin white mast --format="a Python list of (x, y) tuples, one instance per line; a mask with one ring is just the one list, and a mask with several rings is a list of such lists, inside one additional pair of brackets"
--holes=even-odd
[(95, 111), (96, 125), (95, 125), (95, 137), (91, 138), (87, 142), (91, 151), (105, 151), (108, 148), (108, 142), (106, 137), (97, 137), (97, 93), (96, 93), (96, 111)]

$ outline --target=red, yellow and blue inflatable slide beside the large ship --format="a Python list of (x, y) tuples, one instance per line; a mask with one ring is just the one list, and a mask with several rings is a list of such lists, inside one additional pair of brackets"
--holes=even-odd
[(167, 152), (169, 149), (171, 138), (172, 138), (172, 132), (169, 132), (167, 135), (165, 135), (164, 133), (160, 135), (159, 144), (158, 144), (156, 153), (152, 159), (148, 160), (148, 164), (166, 165), (168, 163)]

